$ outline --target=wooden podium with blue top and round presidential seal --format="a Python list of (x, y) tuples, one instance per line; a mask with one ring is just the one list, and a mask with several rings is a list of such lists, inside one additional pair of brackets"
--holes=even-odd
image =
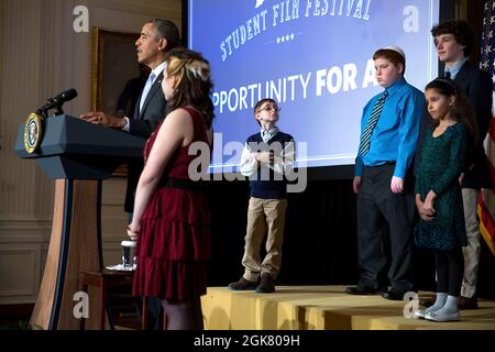
[[(66, 114), (45, 119), (43, 130), (38, 150), (30, 154), (21, 124), (14, 146), (20, 157), (34, 160), (55, 179), (48, 254), (30, 322), (35, 329), (78, 329), (76, 305), (89, 304), (76, 295), (79, 272), (103, 266), (101, 182), (124, 160), (142, 156), (145, 140)], [(96, 308), (89, 315), (101, 318)]]

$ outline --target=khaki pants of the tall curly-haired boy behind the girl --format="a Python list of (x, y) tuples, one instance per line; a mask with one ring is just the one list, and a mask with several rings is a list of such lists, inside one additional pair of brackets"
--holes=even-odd
[(477, 196), (477, 189), (462, 189), (468, 246), (462, 248), (462, 253), (464, 255), (464, 277), (462, 279), (461, 296), (466, 298), (471, 298), (476, 294), (477, 266), (480, 264), (481, 233), (480, 220), (476, 212)]

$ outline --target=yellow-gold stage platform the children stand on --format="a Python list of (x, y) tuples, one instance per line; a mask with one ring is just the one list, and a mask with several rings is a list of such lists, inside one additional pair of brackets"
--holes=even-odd
[[(201, 297), (207, 330), (495, 330), (495, 301), (462, 310), (461, 320), (406, 318), (407, 301), (352, 296), (345, 286), (277, 286), (274, 294), (208, 287)], [(432, 295), (419, 293), (420, 297)], [(409, 308), (410, 306), (408, 306)]]

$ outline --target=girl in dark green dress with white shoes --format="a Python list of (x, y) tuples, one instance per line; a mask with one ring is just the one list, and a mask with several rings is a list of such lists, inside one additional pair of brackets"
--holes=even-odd
[(462, 246), (466, 245), (460, 180), (470, 146), (476, 138), (471, 102), (455, 82), (438, 78), (426, 87), (425, 97), (433, 125), (427, 131), (416, 170), (415, 197), (419, 222), (418, 246), (435, 251), (437, 299), (416, 311), (432, 321), (459, 320), (458, 297), (463, 274)]

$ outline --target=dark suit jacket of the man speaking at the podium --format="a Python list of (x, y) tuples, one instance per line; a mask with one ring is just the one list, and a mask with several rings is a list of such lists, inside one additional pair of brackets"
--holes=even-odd
[[(150, 89), (143, 109), (140, 113), (141, 96), (134, 109), (134, 117), (129, 119), (129, 132), (143, 139), (148, 139), (156, 125), (163, 121), (166, 114), (166, 101), (162, 91), (163, 73), (160, 74)], [(134, 194), (138, 187), (141, 172), (143, 170), (143, 158), (129, 161), (128, 188), (125, 191), (124, 210), (132, 212), (134, 209)]]

